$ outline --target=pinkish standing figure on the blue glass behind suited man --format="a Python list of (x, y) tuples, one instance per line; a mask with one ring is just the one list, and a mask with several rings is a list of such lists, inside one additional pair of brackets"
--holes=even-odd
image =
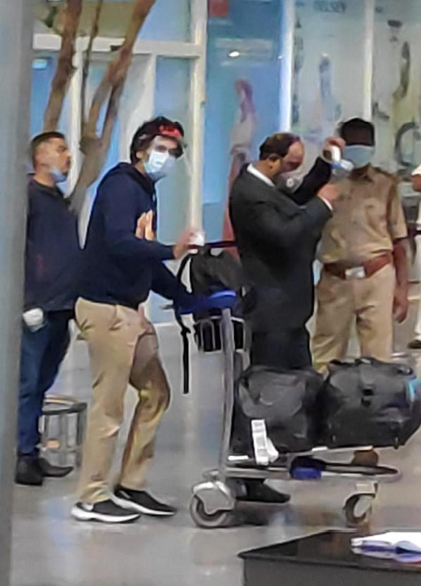
[[(238, 112), (231, 131), (231, 168), (228, 181), (228, 194), (232, 183), (245, 163), (251, 161), (252, 142), (256, 128), (256, 109), (253, 99), (253, 87), (246, 79), (235, 81), (235, 93), (238, 99)], [(225, 207), (223, 240), (234, 240), (234, 233)]]

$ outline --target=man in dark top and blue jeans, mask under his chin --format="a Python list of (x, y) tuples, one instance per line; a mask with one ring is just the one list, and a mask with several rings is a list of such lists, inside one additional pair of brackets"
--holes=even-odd
[(70, 342), (81, 252), (77, 215), (57, 187), (70, 170), (66, 139), (60, 132), (44, 132), (30, 147), (35, 172), (28, 185), (15, 481), (39, 486), (46, 476), (71, 472), (70, 466), (53, 466), (39, 457), (38, 427), (45, 393)]

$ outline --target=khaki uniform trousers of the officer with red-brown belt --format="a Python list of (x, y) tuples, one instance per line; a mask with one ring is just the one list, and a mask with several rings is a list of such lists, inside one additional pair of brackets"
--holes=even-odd
[(393, 347), (395, 269), (386, 265), (369, 278), (343, 280), (323, 271), (317, 285), (314, 367), (344, 359), (355, 320), (361, 356), (389, 360)]

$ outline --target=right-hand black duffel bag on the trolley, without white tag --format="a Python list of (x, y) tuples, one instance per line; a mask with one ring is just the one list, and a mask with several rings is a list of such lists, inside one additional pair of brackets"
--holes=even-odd
[(421, 425), (421, 381), (409, 366), (331, 362), (320, 396), (329, 448), (405, 445)]

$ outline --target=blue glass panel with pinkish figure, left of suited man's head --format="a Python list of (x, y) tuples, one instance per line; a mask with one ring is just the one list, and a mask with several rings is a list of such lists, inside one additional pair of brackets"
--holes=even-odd
[(223, 4), (211, 6), (208, 21), (203, 177), (208, 240), (222, 235), (232, 179), (256, 156), (262, 137), (279, 128), (282, 2), (230, 0), (226, 9)]

